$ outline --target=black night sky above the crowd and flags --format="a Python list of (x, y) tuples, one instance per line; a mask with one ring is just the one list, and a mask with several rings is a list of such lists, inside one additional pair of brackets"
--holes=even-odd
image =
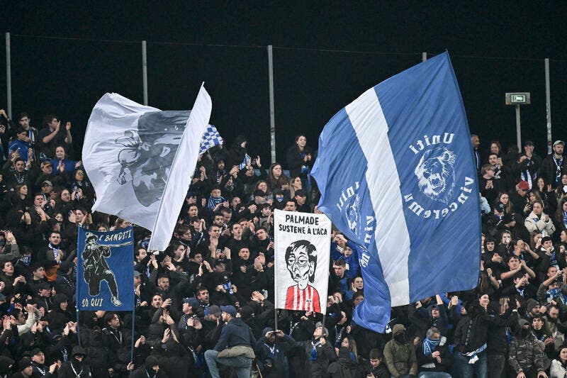
[[(40, 3), (40, 4), (38, 4)], [(266, 45), (274, 45), (278, 160), (297, 133), (316, 147), (325, 123), (366, 89), (448, 50), (472, 133), (482, 147), (515, 144), (506, 91), (530, 91), (522, 140), (546, 149), (544, 58), (551, 62), (553, 138), (566, 138), (567, 4), (563, 1), (6, 1), (12, 110), (71, 120), (82, 141), (105, 92), (142, 103), (141, 40), (147, 40), (149, 104), (189, 109), (201, 82), (210, 123), (228, 144), (242, 133), (269, 162)], [(164, 3), (164, 4), (161, 4)], [(73, 5), (76, 4), (76, 5)], [(67, 38), (67, 39), (62, 39)], [(0, 49), (0, 106), (6, 104)]]

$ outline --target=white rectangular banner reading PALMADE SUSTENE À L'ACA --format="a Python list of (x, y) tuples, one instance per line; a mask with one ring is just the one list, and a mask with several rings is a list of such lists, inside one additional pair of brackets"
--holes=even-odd
[[(313, 304), (313, 311), (325, 314), (327, 311), (327, 289), (329, 285), (329, 264), (331, 248), (331, 221), (325, 214), (300, 213), (274, 210), (274, 306), (310, 311), (305, 307)], [(291, 265), (286, 261), (286, 250), (297, 252)], [(309, 250), (309, 252), (308, 252)], [(301, 252), (308, 255), (308, 268), (314, 272), (309, 279), (301, 275), (310, 273), (295, 263)], [(314, 252), (314, 253), (313, 253)], [(313, 259), (313, 257), (315, 257)], [(292, 278), (296, 272), (296, 278)], [(303, 282), (300, 282), (303, 281)], [(305, 286), (301, 289), (301, 286)], [(287, 296), (292, 306), (286, 306)], [(318, 300), (318, 303), (315, 303)]]

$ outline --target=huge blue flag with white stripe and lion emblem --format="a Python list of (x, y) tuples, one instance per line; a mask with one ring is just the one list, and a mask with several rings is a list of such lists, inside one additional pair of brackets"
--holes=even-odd
[(364, 247), (358, 324), (383, 332), (391, 306), (476, 287), (478, 183), (447, 52), (335, 114), (320, 135), (312, 174), (319, 209)]

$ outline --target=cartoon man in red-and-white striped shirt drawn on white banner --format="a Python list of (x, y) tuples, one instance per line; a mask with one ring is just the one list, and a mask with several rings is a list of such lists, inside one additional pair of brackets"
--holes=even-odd
[(317, 269), (317, 250), (309, 240), (297, 240), (286, 249), (286, 267), (295, 285), (288, 287), (287, 309), (320, 312), (319, 293), (313, 284)]

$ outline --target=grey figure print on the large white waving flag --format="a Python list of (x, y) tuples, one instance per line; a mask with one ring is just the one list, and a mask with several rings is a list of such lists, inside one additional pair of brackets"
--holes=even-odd
[(131, 181), (136, 198), (143, 206), (151, 206), (161, 198), (190, 113), (144, 113), (137, 121), (137, 130), (125, 131), (124, 136), (116, 140), (125, 147), (118, 152), (122, 166), (118, 183)]

